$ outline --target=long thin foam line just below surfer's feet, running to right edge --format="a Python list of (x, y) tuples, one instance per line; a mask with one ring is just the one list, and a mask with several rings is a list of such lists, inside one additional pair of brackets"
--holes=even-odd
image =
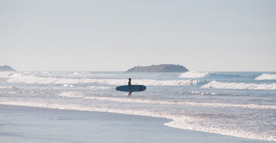
[(86, 96), (84, 98), (90, 99), (90, 100), (106, 100), (106, 101), (131, 102), (131, 103), (143, 103), (143, 104), (171, 104), (171, 105), (214, 106), (214, 107), (234, 107), (234, 108), (252, 108), (252, 109), (276, 109), (276, 105), (177, 102), (177, 101), (94, 97), (94, 96)]

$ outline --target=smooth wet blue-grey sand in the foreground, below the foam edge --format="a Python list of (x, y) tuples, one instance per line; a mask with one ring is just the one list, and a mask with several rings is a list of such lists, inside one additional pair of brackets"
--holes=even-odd
[(173, 120), (152, 116), (7, 104), (0, 108), (5, 142), (273, 142), (174, 128), (164, 125)]

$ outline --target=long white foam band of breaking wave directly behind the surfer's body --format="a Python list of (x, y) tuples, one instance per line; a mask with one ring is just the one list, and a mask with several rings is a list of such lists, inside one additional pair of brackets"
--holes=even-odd
[[(83, 83), (99, 83), (109, 85), (127, 85), (128, 80), (125, 79), (70, 79), (70, 78), (44, 78), (37, 76), (20, 76), (7, 80), (8, 82), (25, 82), (38, 84), (83, 84)], [(132, 80), (132, 84), (143, 84), (145, 86), (186, 86), (189, 84), (197, 84), (199, 80)]]

